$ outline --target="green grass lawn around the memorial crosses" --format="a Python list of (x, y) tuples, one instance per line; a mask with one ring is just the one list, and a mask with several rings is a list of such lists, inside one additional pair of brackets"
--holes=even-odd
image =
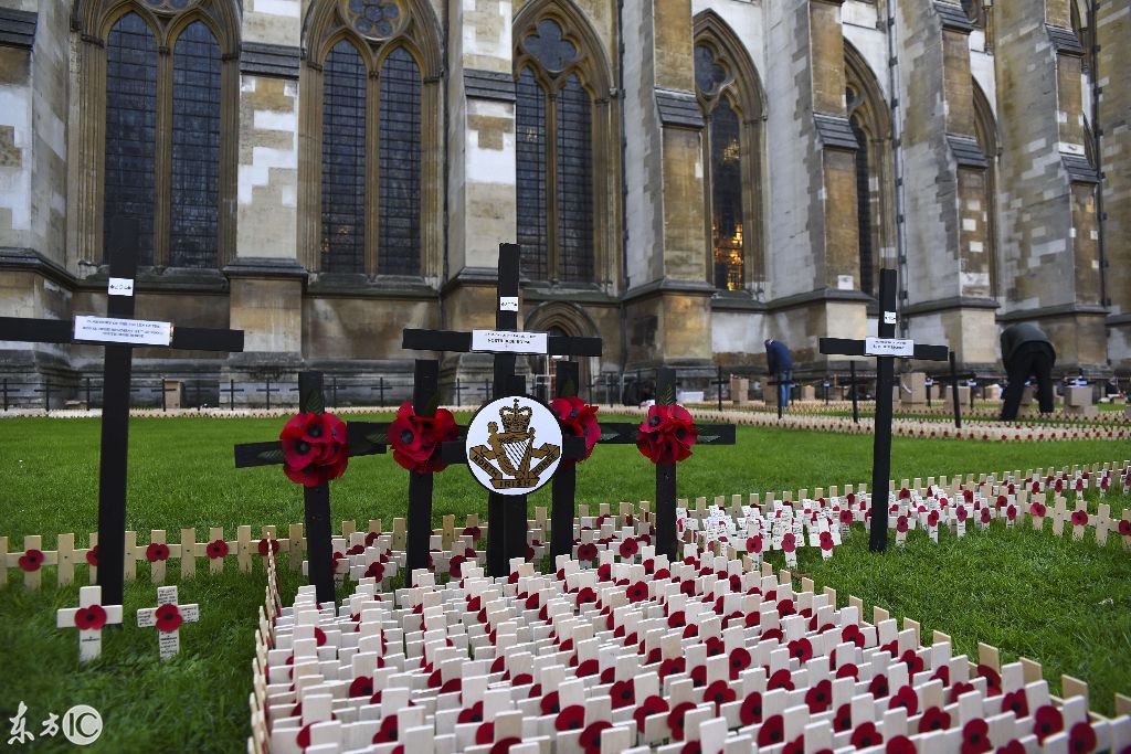
[[(388, 418), (388, 417), (381, 417)], [(463, 417), (466, 419), (466, 417)], [(148, 540), (163, 528), (176, 539), (182, 527), (196, 526), (198, 540), (209, 526), (285, 526), (302, 521), (301, 488), (277, 468), (233, 468), (232, 445), (277, 436), (282, 419), (143, 418), (131, 422), (128, 525)], [(0, 421), (0, 535), (9, 548), (21, 548), (23, 536), (75, 532), (85, 546), (96, 528), (98, 422), (96, 419), (21, 418)], [(681, 496), (749, 492), (775, 493), (830, 484), (860, 483), (871, 476), (870, 436), (820, 434), (793, 430), (740, 427), (733, 448), (705, 448), (680, 466)], [(1102, 441), (1056, 443), (978, 443), (953, 440), (892, 441), (892, 476), (926, 477), (1030, 467), (1090, 463), (1131, 457), (1126, 443)], [(387, 456), (355, 459), (343, 479), (334, 482), (335, 520), (364, 525), (380, 518), (385, 526), (405, 514), (407, 475)], [(435, 485), (439, 517), (483, 514), (485, 493), (465, 469), (452, 468)], [(1094, 494), (1094, 493), (1093, 493)], [(631, 447), (598, 449), (580, 467), (580, 502), (651, 500), (651, 466)], [(1113, 512), (1131, 503), (1108, 496)], [(549, 491), (530, 505), (549, 505)], [(1095, 502), (1091, 503), (1095, 510)], [(780, 565), (779, 558), (771, 558)], [(198, 563), (198, 570), (202, 563)], [(205, 569), (206, 571), (207, 569)], [(54, 627), (54, 610), (74, 606), (77, 586), (58, 589), (48, 569), (46, 587), (27, 592), (14, 582), (0, 589), (0, 717), (12, 717), (19, 701), (28, 711), (28, 730), (40, 733), (48, 712), (62, 714), (87, 703), (105, 719), (103, 737), (90, 751), (141, 751), (176, 742), (183, 751), (233, 751), (248, 734), (252, 634), (256, 608), (264, 596), (260, 569), (251, 575), (230, 564), (223, 577), (202, 573), (178, 580), (170, 562), (170, 582), (180, 583), (181, 601), (199, 603), (200, 624), (182, 630), (182, 655), (157, 660), (156, 636), (136, 627), (107, 634), (98, 662), (77, 668), (75, 631)], [(297, 580), (283, 564), (284, 591)], [(962, 540), (943, 536), (934, 545), (916, 532), (903, 551), (870, 554), (863, 530), (854, 530), (835, 557), (821, 562), (801, 552), (802, 574), (867, 605), (889, 608), (893, 616), (921, 621), (924, 632), (951, 634), (958, 651), (976, 652), (984, 641), (1045, 665), (1059, 685), (1061, 673), (1093, 685), (1093, 707), (1112, 711), (1112, 694), (1131, 692), (1131, 555), (1119, 537), (1103, 549), (1089, 539), (1071, 541), (1028, 528), (990, 532)], [(86, 569), (77, 569), (86, 582)], [(152, 606), (155, 588), (145, 563), (138, 581), (127, 588), (126, 617)], [(925, 633), (929, 636), (929, 633)], [(7, 679), (17, 679), (16, 683)], [(40, 744), (40, 742), (36, 742)], [(69, 749), (61, 737), (36, 751)]]

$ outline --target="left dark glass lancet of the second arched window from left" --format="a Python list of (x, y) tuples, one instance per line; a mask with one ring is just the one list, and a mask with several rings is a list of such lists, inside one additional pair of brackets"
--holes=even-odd
[(322, 67), (322, 269), (365, 271), (365, 63), (338, 42)]

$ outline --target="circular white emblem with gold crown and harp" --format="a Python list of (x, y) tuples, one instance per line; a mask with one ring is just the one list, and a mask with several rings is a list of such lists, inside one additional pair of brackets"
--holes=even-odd
[(525, 495), (550, 482), (562, 458), (562, 430), (542, 402), (509, 396), (481, 408), (467, 427), (467, 463), (484, 487)]

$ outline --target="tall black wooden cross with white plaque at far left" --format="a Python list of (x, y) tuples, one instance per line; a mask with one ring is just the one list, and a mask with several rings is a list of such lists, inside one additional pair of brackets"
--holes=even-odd
[(242, 330), (175, 327), (172, 322), (133, 319), (138, 233), (136, 218), (111, 220), (105, 318), (76, 315), (69, 321), (0, 317), (0, 340), (105, 346), (98, 471), (98, 586), (111, 605), (122, 604), (126, 567), (126, 469), (133, 348), (243, 350)]

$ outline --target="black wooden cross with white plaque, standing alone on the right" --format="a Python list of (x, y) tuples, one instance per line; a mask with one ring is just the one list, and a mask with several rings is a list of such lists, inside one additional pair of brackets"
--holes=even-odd
[[(879, 337), (852, 340), (821, 338), (822, 354), (875, 357), (875, 425), (872, 444), (872, 529), (870, 547), (882, 553), (888, 547), (888, 478), (891, 475), (891, 388), (896, 358), (922, 358), (944, 362), (946, 346), (924, 346), (896, 338), (896, 271), (880, 270)], [(855, 385), (853, 385), (855, 389)]]

